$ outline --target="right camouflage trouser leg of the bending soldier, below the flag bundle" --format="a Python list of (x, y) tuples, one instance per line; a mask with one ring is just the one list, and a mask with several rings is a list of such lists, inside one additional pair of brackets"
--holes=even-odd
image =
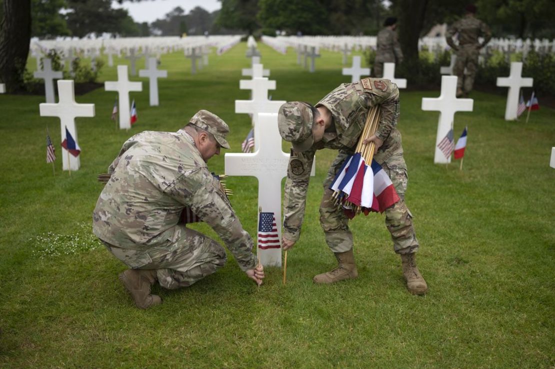
[(385, 225), (391, 233), (393, 249), (397, 254), (410, 254), (418, 250), (415, 228), (412, 224), (412, 214), (405, 204), (407, 189), (407, 169), (402, 156), (392, 156), (382, 167), (391, 178), (395, 191), (401, 198), (385, 211)]

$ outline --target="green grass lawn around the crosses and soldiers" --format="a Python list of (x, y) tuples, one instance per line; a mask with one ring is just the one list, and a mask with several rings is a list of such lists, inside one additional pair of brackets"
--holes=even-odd
[[(345, 79), (341, 54), (322, 50), (316, 73), (295, 53), (259, 45), (278, 89), (274, 100), (317, 102)], [(415, 216), (418, 265), (430, 292), (407, 293), (382, 214), (351, 222), (359, 278), (312, 284), (335, 259), (324, 242), (318, 206), (334, 152), (317, 155), (300, 241), (289, 252), (287, 285), (266, 269), (257, 289), (230, 256), (190, 288), (155, 288), (164, 303), (135, 308), (117, 276), (125, 266), (94, 239), (96, 181), (122, 143), (142, 130), (176, 131), (200, 109), (231, 127), (230, 152), (250, 129), (234, 113), (246, 44), (210, 55), (190, 74), (183, 53), (163, 55), (160, 106), (148, 106), (148, 81), (130, 131), (110, 120), (115, 93), (78, 96), (94, 118), (77, 119), (82, 167), (62, 172), (59, 120), (39, 117), (44, 96), (0, 95), (0, 366), (2, 367), (553, 367), (555, 366), (555, 110), (528, 124), (503, 119), (506, 99), (473, 93), (463, 171), (434, 165), (437, 112), (420, 109), (437, 92), (401, 92), (399, 129), (408, 165), (406, 202)], [(120, 59), (118, 63), (126, 63)], [(30, 65), (34, 65), (34, 60)], [(138, 69), (143, 68), (139, 63)], [(115, 80), (106, 64), (101, 80)], [(134, 78), (139, 80), (139, 78)], [(408, 84), (411, 81), (408, 79)], [(46, 163), (46, 127), (56, 145), (56, 175)], [(285, 148), (285, 146), (284, 146)], [(209, 167), (224, 172), (224, 157)], [(257, 182), (232, 177), (231, 202), (256, 231)], [(216, 237), (203, 224), (195, 229)]]

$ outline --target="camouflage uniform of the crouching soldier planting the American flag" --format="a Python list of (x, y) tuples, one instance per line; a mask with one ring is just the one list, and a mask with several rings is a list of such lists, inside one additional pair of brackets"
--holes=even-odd
[(157, 269), (160, 285), (175, 289), (224, 266), (221, 245), (179, 223), (185, 207), (215, 230), (242, 270), (255, 267), (253, 240), (184, 129), (131, 137), (109, 173), (93, 232), (130, 268)]

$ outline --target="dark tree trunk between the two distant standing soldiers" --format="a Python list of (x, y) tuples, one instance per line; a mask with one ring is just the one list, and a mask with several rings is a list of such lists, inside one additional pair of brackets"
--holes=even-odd
[(407, 64), (418, 62), (418, 39), (424, 26), (428, 0), (399, 0), (399, 43)]

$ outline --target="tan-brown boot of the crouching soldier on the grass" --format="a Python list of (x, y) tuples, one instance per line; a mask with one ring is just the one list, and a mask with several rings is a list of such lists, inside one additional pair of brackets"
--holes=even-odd
[(162, 304), (160, 296), (150, 294), (150, 286), (158, 280), (155, 269), (128, 269), (119, 275), (119, 280), (122, 281), (139, 309), (148, 309), (150, 306)]

